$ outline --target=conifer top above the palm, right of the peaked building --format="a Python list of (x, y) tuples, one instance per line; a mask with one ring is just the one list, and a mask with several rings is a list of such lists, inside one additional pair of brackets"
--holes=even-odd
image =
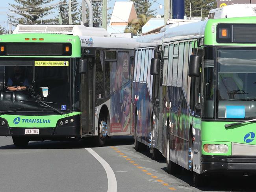
[(152, 2), (150, 2), (149, 0), (132, 0), (134, 2), (134, 6), (135, 6), (135, 10), (137, 12), (138, 15), (145, 15), (146, 17), (153, 17), (154, 16), (154, 11), (156, 11), (156, 9), (154, 10), (150, 10), (150, 7), (152, 6)]

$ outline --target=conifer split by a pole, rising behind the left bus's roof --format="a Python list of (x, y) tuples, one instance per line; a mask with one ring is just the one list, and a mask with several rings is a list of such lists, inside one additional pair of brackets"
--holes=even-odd
[[(57, 9), (59, 13), (61, 14), (62, 24), (68, 25), (69, 24), (69, 0), (60, 0), (59, 5), (57, 6)], [(80, 18), (79, 18), (79, 11), (78, 11), (78, 2), (77, 0), (72, 0), (72, 6), (71, 6), (71, 17), (72, 17), (72, 24), (80, 24)], [(59, 24), (59, 15), (55, 17), (55, 23)]]

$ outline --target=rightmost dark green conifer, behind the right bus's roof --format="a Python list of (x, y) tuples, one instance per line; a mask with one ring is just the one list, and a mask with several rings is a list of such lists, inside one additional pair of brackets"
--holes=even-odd
[(190, 15), (190, 2), (192, 17), (208, 17), (208, 13), (211, 9), (217, 7), (217, 0), (185, 0), (185, 14)]

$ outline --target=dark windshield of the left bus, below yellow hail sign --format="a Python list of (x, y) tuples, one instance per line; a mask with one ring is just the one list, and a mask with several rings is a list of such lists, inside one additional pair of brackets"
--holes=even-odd
[[(22, 108), (70, 111), (69, 66), (35, 66), (34, 61), (0, 61), (0, 111)], [(48, 89), (48, 96), (42, 89)]]

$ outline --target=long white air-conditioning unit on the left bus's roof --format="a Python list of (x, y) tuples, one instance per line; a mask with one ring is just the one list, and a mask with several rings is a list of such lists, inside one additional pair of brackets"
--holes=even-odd
[(85, 27), (84, 25), (18, 25), (13, 34), (19, 33), (58, 33), (67, 35), (109, 37), (103, 28)]

